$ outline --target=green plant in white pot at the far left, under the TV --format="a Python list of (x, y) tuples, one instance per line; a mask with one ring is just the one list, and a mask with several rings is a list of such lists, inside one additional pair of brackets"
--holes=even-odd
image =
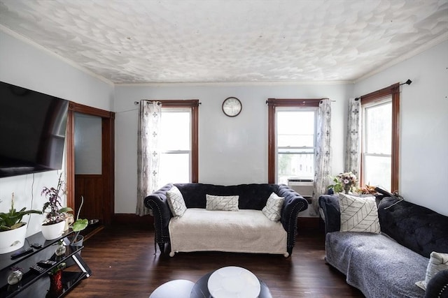
[(28, 214), (42, 214), (39, 210), (25, 210), (26, 207), (16, 211), (14, 208), (14, 193), (11, 195), (11, 207), (7, 213), (0, 212), (0, 253), (15, 251), (25, 244), (27, 223), (22, 221)]

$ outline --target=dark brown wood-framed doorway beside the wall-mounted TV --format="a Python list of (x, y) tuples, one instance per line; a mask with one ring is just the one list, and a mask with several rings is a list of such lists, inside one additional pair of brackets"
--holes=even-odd
[(114, 213), (115, 113), (71, 102), (67, 117), (67, 206), (80, 218), (111, 223)]

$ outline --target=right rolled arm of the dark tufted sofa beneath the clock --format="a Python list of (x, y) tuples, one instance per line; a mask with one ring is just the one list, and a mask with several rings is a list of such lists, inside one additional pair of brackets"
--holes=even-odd
[(295, 234), (297, 233), (297, 216), (300, 211), (308, 208), (308, 202), (292, 188), (284, 184), (279, 185), (277, 195), (285, 198), (281, 208), (280, 222), (288, 234), (286, 242), (288, 253), (293, 253)]

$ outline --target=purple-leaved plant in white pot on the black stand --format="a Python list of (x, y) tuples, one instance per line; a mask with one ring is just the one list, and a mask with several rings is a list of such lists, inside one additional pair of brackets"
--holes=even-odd
[[(62, 173), (59, 174), (57, 187), (43, 187), (41, 195), (45, 195), (48, 202), (43, 204), (42, 211), (45, 212), (45, 221), (42, 223), (42, 234), (47, 240), (56, 239), (62, 235), (65, 227), (66, 213), (73, 211), (70, 207), (62, 207), (61, 195), (64, 193), (64, 181)], [(48, 211), (47, 211), (48, 210)]]

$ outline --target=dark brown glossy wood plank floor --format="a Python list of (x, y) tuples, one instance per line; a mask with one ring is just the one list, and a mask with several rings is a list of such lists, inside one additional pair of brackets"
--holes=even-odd
[[(148, 298), (172, 279), (197, 281), (210, 271), (239, 266), (252, 271), (273, 297), (364, 297), (347, 285), (345, 276), (325, 264), (324, 236), (316, 228), (301, 229), (290, 258), (243, 253), (154, 254), (154, 232), (132, 226), (104, 228), (85, 241), (83, 259), (92, 276), (67, 297)], [(171, 298), (171, 297), (167, 297)], [(174, 297), (175, 298), (175, 297)]]

